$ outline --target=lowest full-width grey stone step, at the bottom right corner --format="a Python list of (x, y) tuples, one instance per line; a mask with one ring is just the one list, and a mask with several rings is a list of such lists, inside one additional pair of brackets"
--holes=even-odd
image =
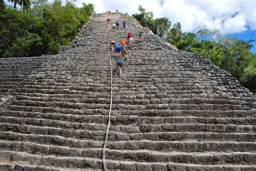
[[(53, 166), (53, 169), (56, 167), (61, 167), (60, 170), (65, 170), (68, 168), (76, 168), (79, 170), (81, 168), (85, 169), (100, 169), (102, 168), (102, 161), (95, 160), (91, 158), (71, 158), (71, 157), (58, 157), (58, 156), (40, 156), (32, 155), (23, 152), (12, 152), (12, 151), (1, 151), (0, 152), (3, 160), (5, 162), (12, 162), (14, 159), (22, 163), (29, 163), (33, 161), (33, 165), (44, 165), (44, 166)], [(10, 157), (9, 157), (10, 156)], [(12, 159), (11, 159), (12, 157)], [(34, 162), (35, 161), (35, 162)], [(27, 164), (26, 164), (27, 165)], [(2, 167), (2, 165), (0, 165)], [(5, 165), (6, 166), (6, 165)], [(21, 166), (21, 165), (19, 165)], [(21, 166), (18, 168), (28, 168), (28, 166)], [(106, 160), (106, 166), (108, 169), (122, 169), (122, 170), (254, 170), (255, 165), (223, 165), (221, 163), (215, 165), (195, 165), (192, 163), (160, 163), (160, 162), (133, 162), (133, 161), (113, 161)], [(57, 169), (58, 170), (58, 169)]]

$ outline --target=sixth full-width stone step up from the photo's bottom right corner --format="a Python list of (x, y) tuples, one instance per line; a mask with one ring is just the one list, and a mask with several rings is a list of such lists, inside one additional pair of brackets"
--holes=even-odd
[[(21, 118), (38, 118), (51, 119), (67, 122), (79, 123), (96, 123), (107, 124), (107, 115), (75, 115), (60, 113), (38, 113), (38, 112), (21, 112), (21, 111), (5, 111), (1, 113), (2, 117), (21, 117)], [(214, 117), (142, 117), (138, 115), (111, 115), (111, 125), (140, 125), (140, 124), (234, 124), (234, 125), (256, 125), (254, 117), (238, 117), (238, 118), (214, 118)]]

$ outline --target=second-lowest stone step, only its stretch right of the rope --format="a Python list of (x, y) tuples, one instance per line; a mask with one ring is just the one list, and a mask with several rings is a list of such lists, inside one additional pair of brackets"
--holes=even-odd
[(106, 158), (111, 160), (131, 160), (144, 162), (177, 162), (194, 163), (203, 165), (237, 164), (255, 165), (255, 153), (249, 152), (207, 152), (207, 153), (185, 153), (185, 152), (158, 152), (144, 150), (110, 150), (106, 151)]

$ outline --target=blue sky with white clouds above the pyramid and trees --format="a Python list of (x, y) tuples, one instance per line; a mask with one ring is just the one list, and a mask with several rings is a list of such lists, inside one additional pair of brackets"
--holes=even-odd
[[(256, 0), (76, 0), (74, 3), (81, 7), (83, 2), (94, 4), (96, 13), (118, 9), (128, 15), (139, 13), (138, 7), (142, 5), (153, 12), (154, 18), (167, 17), (172, 24), (180, 22), (183, 32), (196, 32), (206, 25), (209, 29), (219, 29), (223, 35), (256, 39)], [(251, 51), (256, 53), (256, 42), (253, 45)]]

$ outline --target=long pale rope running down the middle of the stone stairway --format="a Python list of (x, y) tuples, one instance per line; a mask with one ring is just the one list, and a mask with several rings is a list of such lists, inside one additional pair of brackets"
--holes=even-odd
[[(110, 24), (109, 24), (109, 28), (110, 28)], [(109, 128), (110, 128), (110, 116), (111, 116), (111, 108), (112, 108), (112, 92), (113, 92), (113, 81), (112, 81), (112, 67), (111, 67), (111, 58), (110, 58), (110, 52), (109, 52), (109, 44), (110, 44), (110, 29), (109, 29), (109, 41), (107, 43), (107, 51), (109, 53), (109, 64), (110, 64), (110, 77), (111, 77), (111, 95), (110, 95), (110, 108), (109, 108), (109, 122), (107, 124), (107, 129), (106, 129), (106, 136), (105, 136), (105, 142), (104, 142), (104, 146), (103, 146), (103, 158), (102, 158), (102, 163), (103, 163), (103, 167), (104, 170), (106, 171), (106, 160), (105, 160), (105, 151), (106, 151), (106, 145), (107, 145), (107, 136), (109, 135)]]

